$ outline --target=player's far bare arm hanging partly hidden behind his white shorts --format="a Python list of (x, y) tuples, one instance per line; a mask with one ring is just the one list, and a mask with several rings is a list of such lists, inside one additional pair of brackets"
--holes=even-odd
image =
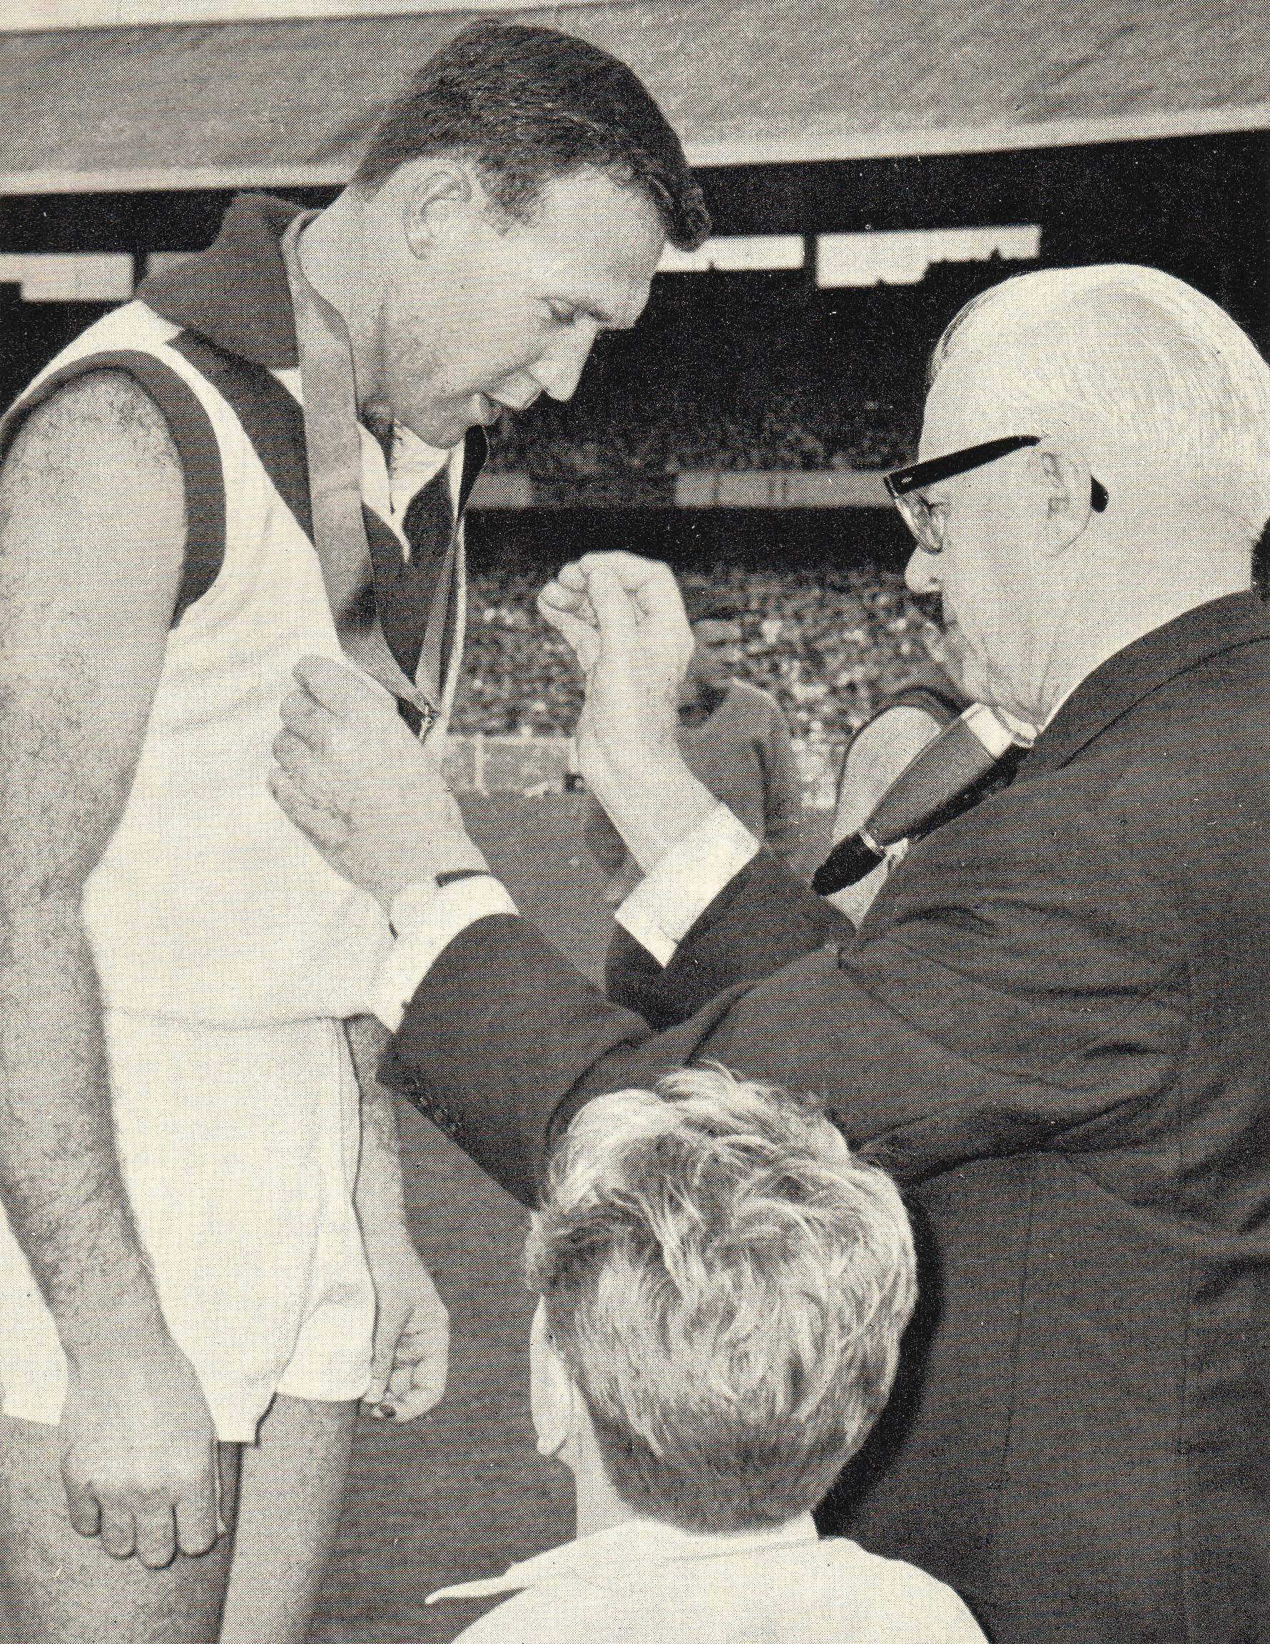
[(445, 1391), (450, 1315), (406, 1225), (394, 1097), (375, 1078), (388, 1029), (371, 1016), (347, 1026), (361, 1087), (353, 1202), (375, 1279), (375, 1348), (363, 1406), (381, 1420), (411, 1422)]

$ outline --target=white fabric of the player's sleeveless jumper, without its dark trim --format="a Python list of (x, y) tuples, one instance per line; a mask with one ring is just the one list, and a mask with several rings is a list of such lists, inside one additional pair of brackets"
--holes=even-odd
[[(168, 347), (176, 335), (130, 302), (33, 385), (102, 350), (158, 357), (207, 413), (225, 482), (223, 566), (168, 636), (136, 776), (85, 884), (84, 922), (112, 1009), (220, 1026), (355, 1016), (391, 945), (386, 916), (327, 866), (266, 783), (294, 664), (343, 661), (322, 570), (235, 413)], [(274, 375), (299, 399), (299, 372)], [(407, 447), (411, 490), (449, 460), (453, 495), (462, 447), (432, 452), (412, 437)], [(363, 492), (399, 534), (409, 498), (391, 508), (366, 431)]]

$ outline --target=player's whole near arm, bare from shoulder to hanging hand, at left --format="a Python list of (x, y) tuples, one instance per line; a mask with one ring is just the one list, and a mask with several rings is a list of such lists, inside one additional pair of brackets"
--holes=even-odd
[(0, 1197), (67, 1356), (71, 1522), (161, 1567), (217, 1535), (215, 1435), (120, 1177), (84, 883), (163, 666), (184, 488), (107, 373), (31, 413), (0, 473)]

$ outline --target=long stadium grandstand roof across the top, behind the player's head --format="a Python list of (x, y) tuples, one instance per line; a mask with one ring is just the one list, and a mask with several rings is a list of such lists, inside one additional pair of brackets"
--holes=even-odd
[[(7, 35), (0, 194), (343, 182), (412, 69), (488, 15), (366, 10)], [(1263, 0), (1089, 0), (1074, 15), (1053, 0), (501, 10), (623, 56), (702, 166), (1270, 128)]]

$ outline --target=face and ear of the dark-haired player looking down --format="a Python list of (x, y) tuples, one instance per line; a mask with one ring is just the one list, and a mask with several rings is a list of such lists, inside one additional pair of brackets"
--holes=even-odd
[(539, 395), (568, 399), (596, 335), (639, 319), (665, 243), (652, 201), (598, 171), (545, 179), (526, 222), (470, 176), (398, 266), (381, 321), (388, 409), (439, 447)]

